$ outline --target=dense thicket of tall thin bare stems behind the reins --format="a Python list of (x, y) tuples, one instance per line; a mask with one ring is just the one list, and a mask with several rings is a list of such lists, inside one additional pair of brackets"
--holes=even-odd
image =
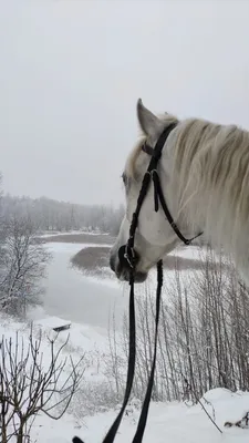
[[(221, 387), (231, 391), (249, 389), (249, 291), (240, 284), (229, 259), (209, 247), (200, 253), (198, 271), (166, 278), (153, 398), (196, 403), (204, 393)], [(177, 262), (176, 262), (177, 265)], [(136, 293), (136, 374), (133, 394), (143, 400), (152, 361), (155, 291), (146, 284), (143, 297)], [(138, 288), (136, 290), (138, 292)], [(113, 323), (115, 329), (115, 323)], [(112, 377), (124, 391), (124, 357), (128, 327), (123, 323), (123, 343), (110, 333)], [(115, 342), (115, 347), (114, 347)], [(123, 359), (122, 359), (123, 358)], [(191, 390), (186, 389), (185, 380)]]

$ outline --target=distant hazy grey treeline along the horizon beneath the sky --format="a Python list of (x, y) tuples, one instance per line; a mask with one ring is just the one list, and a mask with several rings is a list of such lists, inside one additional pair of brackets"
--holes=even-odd
[(40, 230), (100, 230), (116, 235), (124, 215), (124, 206), (80, 205), (58, 202), (48, 197), (13, 197), (9, 194), (1, 199), (2, 214), (29, 217)]

